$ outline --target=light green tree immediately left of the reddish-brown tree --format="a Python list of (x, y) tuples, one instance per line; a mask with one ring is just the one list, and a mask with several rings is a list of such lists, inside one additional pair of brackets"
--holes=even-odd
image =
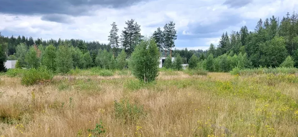
[(40, 65), (37, 51), (34, 46), (31, 46), (25, 56), (27, 68), (38, 68)]

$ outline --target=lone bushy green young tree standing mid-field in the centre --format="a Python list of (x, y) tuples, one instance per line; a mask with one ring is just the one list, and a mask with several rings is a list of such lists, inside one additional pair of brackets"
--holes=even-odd
[(144, 83), (156, 80), (159, 71), (159, 52), (153, 39), (137, 45), (128, 62), (131, 73)]

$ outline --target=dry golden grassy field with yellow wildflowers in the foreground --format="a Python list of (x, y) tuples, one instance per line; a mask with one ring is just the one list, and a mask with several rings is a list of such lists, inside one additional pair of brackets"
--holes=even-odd
[(0, 136), (298, 136), (295, 74), (164, 70), (144, 85), (129, 71), (100, 73), (34, 86), (0, 76)]

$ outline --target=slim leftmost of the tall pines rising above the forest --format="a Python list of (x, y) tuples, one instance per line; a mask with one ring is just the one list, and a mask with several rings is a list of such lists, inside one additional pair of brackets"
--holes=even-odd
[(115, 52), (117, 51), (117, 49), (119, 48), (119, 36), (117, 34), (118, 32), (118, 28), (117, 28), (117, 25), (115, 22), (113, 22), (113, 24), (111, 24), (112, 26), (112, 29), (110, 31), (110, 36), (108, 36), (108, 41), (110, 41), (110, 45), (111, 45), (111, 48), (113, 50), (113, 57), (115, 56)]

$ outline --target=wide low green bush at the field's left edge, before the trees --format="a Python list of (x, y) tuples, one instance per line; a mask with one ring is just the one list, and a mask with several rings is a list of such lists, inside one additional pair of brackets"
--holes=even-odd
[(40, 67), (38, 69), (30, 68), (29, 70), (24, 71), (21, 84), (29, 86), (37, 84), (38, 82), (49, 82), (53, 77), (54, 75), (52, 72), (45, 67)]

